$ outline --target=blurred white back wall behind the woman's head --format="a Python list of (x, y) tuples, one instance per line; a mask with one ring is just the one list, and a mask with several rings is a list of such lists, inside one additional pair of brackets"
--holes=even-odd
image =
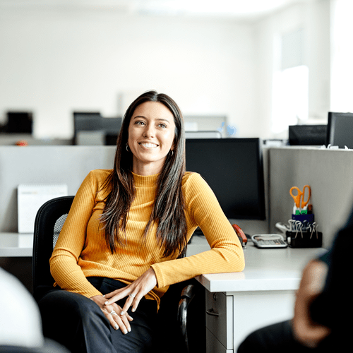
[(69, 138), (74, 109), (114, 116), (122, 92), (133, 99), (150, 89), (184, 114), (224, 114), (238, 136), (258, 136), (250, 24), (3, 9), (0, 48), (0, 119), (31, 109), (37, 137)]

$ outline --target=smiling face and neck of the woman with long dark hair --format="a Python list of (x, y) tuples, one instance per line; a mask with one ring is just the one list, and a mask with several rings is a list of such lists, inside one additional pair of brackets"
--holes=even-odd
[(169, 150), (174, 149), (174, 136), (174, 116), (164, 104), (140, 104), (133, 112), (128, 126), (128, 147), (133, 154), (133, 172), (140, 175), (160, 173)]

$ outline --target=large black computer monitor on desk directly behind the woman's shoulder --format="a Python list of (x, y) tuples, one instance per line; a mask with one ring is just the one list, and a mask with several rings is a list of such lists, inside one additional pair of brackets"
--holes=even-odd
[(228, 219), (265, 219), (259, 138), (187, 139), (186, 170), (201, 174)]

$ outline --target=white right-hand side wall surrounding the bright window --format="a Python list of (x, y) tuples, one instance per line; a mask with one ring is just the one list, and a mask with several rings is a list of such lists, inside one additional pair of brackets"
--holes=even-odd
[(309, 67), (309, 119), (311, 124), (327, 121), (330, 110), (330, 0), (313, 0), (289, 6), (254, 25), (256, 37), (256, 115), (263, 136), (287, 138), (287, 131), (274, 136), (272, 116), (273, 71), (280, 64), (275, 53), (277, 36), (304, 30), (304, 65)]

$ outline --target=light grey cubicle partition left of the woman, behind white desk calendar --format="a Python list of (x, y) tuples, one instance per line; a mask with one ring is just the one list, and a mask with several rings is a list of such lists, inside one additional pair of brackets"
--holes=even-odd
[(67, 184), (74, 195), (92, 169), (109, 169), (114, 146), (0, 146), (0, 232), (17, 232), (19, 184)]

